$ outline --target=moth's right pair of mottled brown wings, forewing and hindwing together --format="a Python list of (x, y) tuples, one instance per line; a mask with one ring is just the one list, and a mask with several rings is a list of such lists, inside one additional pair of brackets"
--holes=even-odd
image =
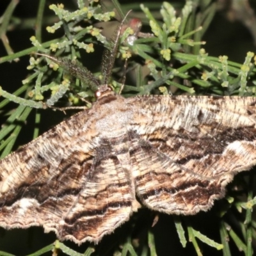
[(132, 125), (132, 170), (138, 196), (151, 209), (207, 211), (237, 172), (256, 164), (255, 98), (143, 97), (139, 102), (143, 111)]

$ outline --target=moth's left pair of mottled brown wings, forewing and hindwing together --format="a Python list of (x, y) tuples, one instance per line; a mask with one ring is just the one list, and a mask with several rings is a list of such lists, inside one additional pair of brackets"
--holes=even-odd
[(129, 219), (138, 205), (122, 157), (129, 155), (127, 136), (108, 139), (100, 130), (111, 109), (98, 100), (1, 160), (2, 227), (42, 225), (61, 240), (97, 243)]

